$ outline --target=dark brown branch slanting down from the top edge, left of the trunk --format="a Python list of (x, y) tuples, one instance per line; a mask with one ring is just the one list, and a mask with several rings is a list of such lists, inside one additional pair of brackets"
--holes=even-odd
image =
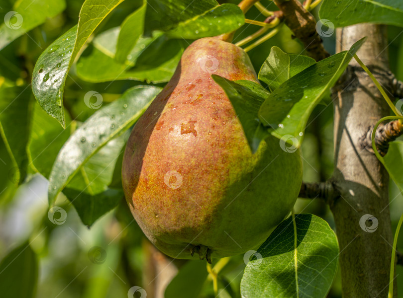
[(315, 18), (303, 8), (298, 0), (273, 0), (284, 14), (285, 24), (301, 40), (308, 55), (316, 61), (329, 57), (322, 40), (316, 32)]

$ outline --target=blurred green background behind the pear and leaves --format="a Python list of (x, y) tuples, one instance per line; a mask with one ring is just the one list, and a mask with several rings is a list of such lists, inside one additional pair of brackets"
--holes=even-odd
[[(237, 3), (237, 1), (230, 2)], [(261, 2), (268, 6), (268, 9), (275, 9), (271, 1)], [(44, 24), (2, 49), (0, 77), (14, 81), (15, 85), (29, 84), (39, 55), (57, 37), (77, 24), (82, 3), (83, 0), (67, 0), (67, 7), (63, 13), (47, 19)], [(1, 19), (11, 10), (12, 4), (13, 1), (0, 0)], [(95, 34), (119, 26), (121, 21), (140, 5), (139, 0), (124, 1), (101, 23)], [(317, 9), (318, 7), (313, 11), (315, 17)], [(246, 17), (260, 21), (265, 19), (255, 7), (247, 12)], [(234, 42), (257, 29), (255, 25), (245, 24), (236, 32)], [(391, 70), (403, 80), (403, 30), (389, 26), (388, 31)], [(331, 54), (334, 54), (334, 35), (325, 38), (324, 45)], [(301, 43), (293, 39), (291, 31), (283, 26), (281, 32), (274, 38), (248, 53), (257, 72), (272, 46), (296, 54), (301, 54), (303, 50)], [(104, 100), (112, 101), (126, 89), (137, 84), (142, 82), (134, 80), (111, 83), (86, 82), (76, 75), (73, 67), (66, 81), (65, 106), (74, 107), (69, 109), (71, 116), (84, 121), (94, 112), (83, 108), (86, 91), (102, 90)], [(82, 111), (85, 112), (81, 113)], [(303, 179), (306, 182), (324, 181), (332, 174), (332, 123), (332, 104), (318, 105), (308, 121), (302, 144)], [(15, 125), (18, 125), (18, 119)], [(0, 168), (0, 259), (15, 247), (20, 245), (26, 247), (26, 243), (30, 244), (39, 259), (37, 298), (127, 297), (127, 291), (132, 286), (146, 289), (148, 297), (163, 297), (161, 295), (166, 283), (185, 265), (186, 261), (172, 261), (153, 248), (133, 221), (124, 200), (115, 210), (107, 213), (88, 229), (81, 223), (71, 203), (61, 195), (56, 205), (67, 211), (67, 218), (63, 224), (52, 224), (48, 219), (47, 180), (39, 174), (32, 174), (26, 183), (17, 188), (13, 181), (15, 170), (2, 142)], [(403, 197), (392, 182), (390, 201), (395, 230), (403, 213)], [(320, 200), (299, 199), (296, 212), (318, 215), (334, 228), (329, 208)], [(403, 250), (402, 237), (398, 241), (398, 249)], [(21, 280), (18, 282), (24, 287), (29, 283), (24, 278), (29, 275), (24, 275), (22, 272), (29, 271), (30, 262), (23, 262), (21, 266), (23, 266), (20, 268)], [(197, 270), (205, 270), (203, 267), (204, 265), (199, 265)], [(240, 297), (239, 284), (244, 267), (242, 256), (233, 257), (220, 274), (222, 282), (229, 284), (228, 289), (231, 289), (233, 297)], [(403, 268), (398, 266), (397, 274), (398, 293), (399, 297), (402, 297)], [(185, 284), (188, 282), (186, 279), (183, 280)], [(201, 297), (214, 297), (210, 281), (205, 282), (202, 293)], [(341, 297), (339, 273), (328, 297)]]

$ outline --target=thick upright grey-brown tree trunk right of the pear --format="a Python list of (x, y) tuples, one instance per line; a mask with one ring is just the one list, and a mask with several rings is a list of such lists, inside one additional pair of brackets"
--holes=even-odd
[[(349, 49), (363, 36), (368, 39), (358, 57), (370, 65), (370, 70), (376, 70), (374, 74), (382, 85), (390, 85), (383, 75), (389, 70), (385, 26), (360, 24), (337, 29), (337, 52)], [(343, 297), (348, 298), (387, 297), (393, 243), (389, 176), (377, 157), (362, 148), (360, 140), (371, 125), (389, 114), (389, 108), (354, 59), (350, 65), (352, 74), (343, 76), (348, 81), (339, 81), (333, 89), (336, 98), (332, 182), (340, 198), (331, 211), (340, 244), (342, 291)], [(354, 82), (343, 90), (351, 80)], [(360, 226), (360, 219), (367, 214), (378, 219), (376, 231), (367, 232)]]

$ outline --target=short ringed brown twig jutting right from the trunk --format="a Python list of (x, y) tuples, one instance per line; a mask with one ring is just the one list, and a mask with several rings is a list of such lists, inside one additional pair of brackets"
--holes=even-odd
[[(367, 133), (361, 139), (361, 145), (363, 149), (367, 149), (368, 151), (374, 152), (372, 149), (372, 130), (374, 126), (368, 128)], [(403, 124), (399, 120), (394, 120), (388, 122), (386, 124), (381, 123), (378, 126), (377, 132), (375, 134), (375, 145), (378, 149), (379, 154), (381, 156), (385, 156), (388, 152), (389, 142), (393, 142), (396, 138), (403, 135)]]

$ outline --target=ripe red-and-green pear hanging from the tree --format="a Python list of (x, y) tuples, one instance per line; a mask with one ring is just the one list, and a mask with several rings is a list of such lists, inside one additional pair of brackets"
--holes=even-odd
[(174, 258), (199, 258), (191, 255), (197, 245), (212, 258), (256, 249), (290, 213), (302, 183), (299, 150), (286, 152), (270, 136), (252, 154), (211, 74), (258, 82), (241, 48), (218, 38), (195, 41), (124, 152), (130, 210), (148, 239)]

